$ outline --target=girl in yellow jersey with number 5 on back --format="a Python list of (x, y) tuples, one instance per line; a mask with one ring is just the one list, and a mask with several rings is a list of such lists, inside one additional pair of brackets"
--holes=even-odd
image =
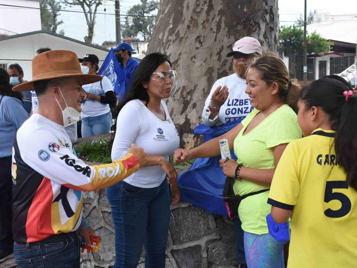
[(330, 78), (301, 91), (305, 138), (288, 144), (268, 203), (278, 223), (292, 212), (288, 268), (357, 266), (357, 96)]

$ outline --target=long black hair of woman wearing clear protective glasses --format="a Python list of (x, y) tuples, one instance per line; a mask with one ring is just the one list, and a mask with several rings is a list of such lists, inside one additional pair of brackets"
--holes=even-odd
[[(129, 90), (126, 92), (124, 99), (118, 103), (118, 106), (113, 112), (114, 118), (117, 118), (120, 110), (124, 105), (132, 100), (140, 100), (149, 103), (149, 94), (146, 91), (146, 88), (142, 86), (143, 82), (148, 82), (150, 76), (155, 72), (155, 70), (164, 62), (171, 62), (168, 60), (167, 56), (161, 53), (151, 53), (146, 55), (141, 62), (139, 63), (137, 69), (134, 72), (133, 80), (130, 83)], [(117, 131), (117, 122), (114, 124), (114, 133), (111, 137), (109, 148), (111, 149)]]

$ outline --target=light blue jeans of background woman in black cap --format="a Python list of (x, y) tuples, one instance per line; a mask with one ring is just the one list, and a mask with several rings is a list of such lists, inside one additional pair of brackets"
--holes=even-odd
[(112, 113), (82, 118), (82, 138), (109, 133), (112, 127)]

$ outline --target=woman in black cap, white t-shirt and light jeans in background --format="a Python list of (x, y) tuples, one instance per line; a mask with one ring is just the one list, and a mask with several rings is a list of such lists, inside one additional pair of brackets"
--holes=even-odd
[[(99, 59), (96, 55), (87, 54), (79, 62), (83, 73), (97, 74)], [(113, 107), (117, 101), (112, 82), (103, 76), (98, 82), (83, 85), (83, 89), (87, 98), (81, 105), (82, 137), (109, 133), (112, 127), (110, 105)]]

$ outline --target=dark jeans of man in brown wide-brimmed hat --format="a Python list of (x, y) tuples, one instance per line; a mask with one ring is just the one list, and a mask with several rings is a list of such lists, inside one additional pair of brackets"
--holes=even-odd
[(79, 249), (74, 232), (51, 235), (40, 242), (14, 243), (18, 268), (79, 268)]

